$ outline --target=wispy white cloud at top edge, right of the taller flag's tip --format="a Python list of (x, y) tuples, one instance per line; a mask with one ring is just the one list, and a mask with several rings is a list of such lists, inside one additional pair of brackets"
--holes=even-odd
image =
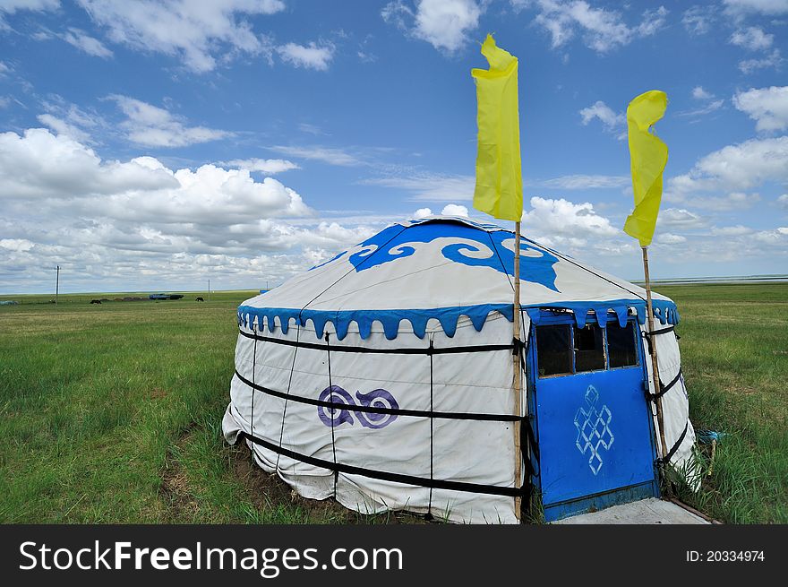
[(638, 25), (630, 26), (618, 11), (595, 8), (585, 0), (536, 0), (535, 3), (512, 0), (512, 4), (515, 8), (535, 4), (539, 13), (534, 22), (550, 33), (553, 48), (562, 47), (579, 32), (586, 46), (599, 53), (654, 35), (664, 26), (668, 13), (664, 6), (647, 10)]

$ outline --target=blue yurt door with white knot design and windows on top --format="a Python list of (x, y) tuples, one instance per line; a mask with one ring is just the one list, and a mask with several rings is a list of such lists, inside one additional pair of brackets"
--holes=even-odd
[[(630, 322), (639, 334), (637, 320)], [(606, 359), (604, 370), (540, 377), (535, 329), (553, 324), (572, 326), (574, 316), (543, 311), (539, 324), (531, 324), (527, 351), (528, 414), (539, 446), (538, 462), (531, 455), (531, 481), (545, 522), (659, 496), (642, 337), (636, 337), (637, 366), (611, 369)], [(595, 317), (588, 315), (587, 324), (597, 324)], [(606, 335), (604, 341), (606, 356)]]

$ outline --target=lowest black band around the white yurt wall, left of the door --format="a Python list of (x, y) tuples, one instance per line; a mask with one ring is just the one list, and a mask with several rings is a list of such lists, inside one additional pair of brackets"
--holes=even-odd
[[(427, 479), (424, 477), (416, 477), (415, 475), (403, 475), (401, 473), (391, 473), (385, 470), (367, 469), (365, 467), (355, 467), (353, 465), (346, 465), (341, 462), (330, 462), (317, 457), (309, 456), (303, 453), (296, 453), (287, 448), (270, 443), (257, 436), (252, 436), (241, 431), (238, 433), (238, 438), (246, 438), (255, 445), (261, 445), (269, 450), (287, 456), (296, 461), (305, 462), (315, 467), (322, 469), (333, 470), (337, 473), (346, 473), (347, 475), (361, 475), (370, 479), (381, 479), (383, 481), (392, 481), (394, 483), (402, 483), (404, 485), (415, 485), (423, 488), (435, 489), (448, 489), (450, 491), (464, 491), (467, 493), (483, 493), (488, 496), (507, 496), (518, 497), (524, 493), (523, 488), (502, 488), (497, 485), (481, 485), (478, 483), (465, 483), (463, 481), (449, 481), (442, 479)], [(236, 441), (237, 442), (237, 441)]]

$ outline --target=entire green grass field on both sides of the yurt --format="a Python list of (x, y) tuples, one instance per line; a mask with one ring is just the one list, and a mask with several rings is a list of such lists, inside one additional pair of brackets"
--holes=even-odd
[[(727, 435), (682, 497), (724, 522), (788, 522), (788, 284), (658, 290), (681, 311), (695, 427)], [(253, 293), (0, 297), (21, 301), (0, 306), (0, 522), (415, 522), (304, 500), (224, 443)]]

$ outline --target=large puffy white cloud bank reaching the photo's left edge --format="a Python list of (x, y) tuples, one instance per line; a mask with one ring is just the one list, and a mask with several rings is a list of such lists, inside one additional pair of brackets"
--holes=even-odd
[[(293, 190), (245, 169), (172, 170), (152, 157), (102, 161), (95, 151), (44, 129), (0, 134), (0, 198), (151, 222), (233, 224), (310, 213)], [(41, 205), (41, 204), (39, 204)]]

